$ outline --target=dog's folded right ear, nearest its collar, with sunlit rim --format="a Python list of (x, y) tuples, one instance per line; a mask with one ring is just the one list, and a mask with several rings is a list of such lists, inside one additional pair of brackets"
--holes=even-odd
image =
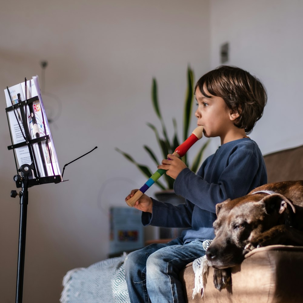
[(288, 205), (291, 207), (291, 210), (293, 212), (296, 211), (291, 201), (280, 194), (268, 195), (264, 197), (261, 202), (264, 203), (265, 210), (268, 215), (272, 215), (274, 212), (282, 214), (286, 210)]

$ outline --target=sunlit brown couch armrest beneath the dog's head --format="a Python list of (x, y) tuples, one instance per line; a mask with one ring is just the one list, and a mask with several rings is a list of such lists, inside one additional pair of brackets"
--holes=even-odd
[(232, 285), (222, 291), (214, 287), (211, 267), (203, 298), (192, 299), (192, 263), (181, 272), (181, 280), (189, 303), (298, 303), (303, 298), (302, 271), (303, 247), (271, 245), (254, 249), (232, 268)]

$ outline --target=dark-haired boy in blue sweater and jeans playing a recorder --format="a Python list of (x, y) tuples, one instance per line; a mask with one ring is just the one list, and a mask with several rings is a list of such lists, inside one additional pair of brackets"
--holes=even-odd
[(166, 244), (151, 244), (127, 256), (125, 276), (133, 303), (185, 302), (179, 271), (205, 255), (208, 240), (215, 237), (216, 204), (267, 182), (261, 151), (247, 137), (267, 102), (261, 82), (240, 68), (221, 66), (198, 80), (195, 95), (197, 124), (204, 127), (205, 137), (220, 137), (221, 146), (197, 175), (173, 155), (158, 166), (175, 179), (175, 193), (185, 198), (184, 204), (173, 206), (147, 195), (136, 201), (143, 225), (188, 229)]

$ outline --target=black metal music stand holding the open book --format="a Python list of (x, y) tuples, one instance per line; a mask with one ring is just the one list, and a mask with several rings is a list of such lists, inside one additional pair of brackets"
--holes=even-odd
[[(27, 99), (26, 94), (26, 79), (25, 79), (25, 100), (22, 101), (20, 94), (18, 94), (18, 103), (12, 100), (11, 93), (7, 87), (9, 98), (11, 99), (12, 106), (5, 109), (9, 131), (11, 136), (12, 145), (8, 146), (8, 149), (14, 151), (15, 164), (17, 169), (17, 174), (14, 176), (13, 180), (16, 183), (17, 188), (22, 188), (19, 193), (17, 191), (11, 191), (11, 197), (15, 198), (17, 195), (20, 197), (20, 222), (19, 222), (19, 241), (18, 241), (18, 265), (17, 265), (17, 283), (16, 283), (16, 303), (22, 303), (23, 296), (23, 279), (24, 279), (24, 261), (25, 261), (25, 239), (26, 239), (26, 219), (27, 219), (27, 206), (28, 206), (28, 188), (34, 185), (46, 184), (46, 183), (58, 183), (62, 181), (62, 176), (60, 171), (54, 169), (52, 163), (52, 156), (55, 153), (54, 145), (52, 142), (52, 137), (49, 132), (47, 125), (47, 119), (42, 103), (42, 99), (38, 96)], [(37, 90), (40, 89), (37, 88)], [(32, 112), (32, 104), (39, 104), (42, 110), (42, 122), (41, 127), (44, 130), (44, 135), (40, 135), (29, 127), (28, 119), (32, 119), (32, 125), (34, 124), (35, 114)], [(39, 103), (38, 103), (39, 102)], [(14, 115), (10, 114), (14, 112)], [(28, 115), (29, 114), (29, 115)], [(12, 129), (12, 124), (10, 120), (16, 119), (15, 129)], [(21, 132), (24, 141), (14, 144), (12, 133), (18, 129)], [(33, 132), (33, 134), (32, 134)], [(31, 163), (22, 164), (19, 168), (16, 160), (17, 148), (28, 148), (28, 153), (30, 155)], [(45, 155), (48, 154), (48, 157)], [(18, 158), (18, 157), (17, 157)], [(56, 155), (55, 155), (56, 159)], [(38, 163), (39, 161), (39, 163)], [(56, 159), (57, 161), (57, 159)], [(47, 163), (50, 167), (47, 170)], [(57, 174), (55, 174), (57, 172)], [(20, 173), (20, 174), (19, 174)]]

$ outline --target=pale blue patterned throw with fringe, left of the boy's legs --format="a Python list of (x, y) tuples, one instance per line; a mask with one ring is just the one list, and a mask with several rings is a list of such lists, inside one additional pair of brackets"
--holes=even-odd
[(63, 278), (61, 303), (130, 303), (124, 273), (126, 253), (75, 268)]

